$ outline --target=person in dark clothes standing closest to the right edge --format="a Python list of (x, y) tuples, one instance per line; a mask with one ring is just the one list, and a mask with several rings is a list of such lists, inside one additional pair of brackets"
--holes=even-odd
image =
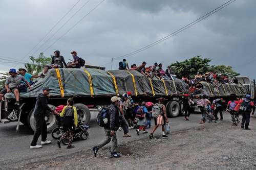
[(249, 128), (249, 123), (250, 123), (250, 114), (251, 111), (254, 112), (254, 103), (251, 102), (251, 95), (246, 94), (245, 98), (242, 100), (241, 106), (240, 106), (240, 111), (242, 112), (242, 123), (241, 123), (241, 128), (245, 130), (251, 130)]

